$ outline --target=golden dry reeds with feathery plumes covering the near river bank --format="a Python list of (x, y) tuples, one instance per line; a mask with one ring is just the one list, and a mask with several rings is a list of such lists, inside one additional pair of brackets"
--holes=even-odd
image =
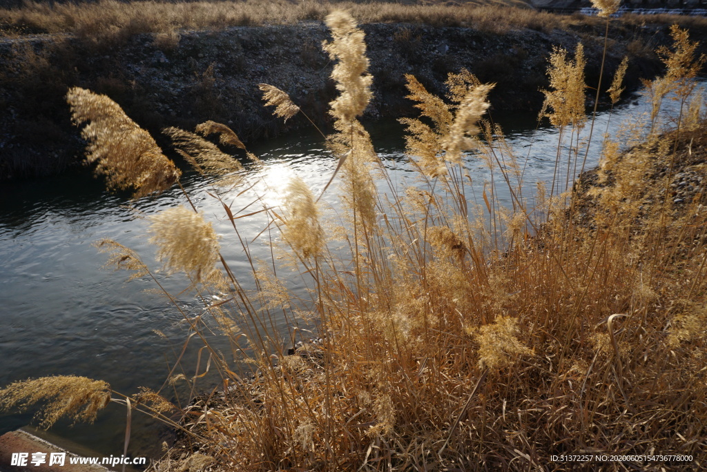
[[(358, 121), (372, 96), (363, 33), (342, 12), (328, 16), (327, 25), (332, 41), (324, 47), (335, 62), (332, 79), (340, 93), (332, 102), (334, 134), (327, 146), (338, 159), (341, 211), (327, 211), (321, 195), (298, 178), (288, 185), (283, 204), (267, 203), (238, 178), (240, 164), (223, 151), (228, 143), (242, 146), (224, 125), (200, 125), (196, 133), (165, 130), (180, 154), (221, 186), (210, 193), (223, 203), (256, 288), (243, 287), (220, 254), (226, 238), (218, 240), (186, 192), (188, 206), (153, 216), (158, 258), (168, 271), (187, 274), (188, 290), (204, 302), (204, 311), (182, 312), (166, 295), (183, 314), (189, 337), (204, 342), (221, 384), (179, 408), (168, 398), (170, 385), (183, 382), (193, 393), (201, 374), (181, 372), (177, 358), (163, 389), (129, 399), (112, 392), (112, 399), (182, 430), (199, 463), (213, 470), (577, 466), (551, 462), (563, 454), (638, 457), (612, 463), (616, 469), (704, 466), (703, 99), (683, 97), (682, 91), (670, 95), (684, 101), (674, 122), (648, 114), (624, 126), (614, 141), (607, 137), (600, 169), (583, 175), (573, 189), (583, 146), (578, 128), (586, 121), (583, 52), (578, 47), (568, 59), (556, 50), (542, 114), (568, 131), (576, 148), (567, 156), (558, 146), (549, 196), (542, 184), (536, 194), (525, 195), (526, 163), (486, 115), (493, 85), (462, 70), (450, 74), (450, 92), (439, 98), (407, 76), (409, 98), (420, 111), (419, 118), (402, 120), (417, 180), (399, 188)], [(686, 90), (701, 66), (694, 42), (679, 28), (673, 36), (674, 48), (664, 51), (667, 73), (648, 84), (653, 90), (664, 83)], [(677, 62), (683, 67), (671, 66)], [(281, 90), (261, 90), (284, 119), (299, 112)], [(620, 90), (621, 79), (615, 78), (601, 92), (616, 102)], [(115, 119), (89, 116), (77, 107), (76, 96), (108, 99), (81, 90), (69, 94), (76, 119), (90, 120), (88, 136), (96, 136), (89, 156), (100, 153), (106, 163), (119, 163), (144, 155), (101, 147), (103, 136), (142, 135), (119, 108), (103, 105)], [(212, 131), (228, 143), (222, 138), (219, 148), (209, 141)], [(146, 149), (150, 156), (161, 155)], [(497, 177), (484, 186), (480, 205), (473, 203), (467, 170), (474, 159)], [(178, 178), (172, 163), (155, 162), (160, 172)], [(102, 168), (109, 182), (140, 183), (134, 185), (140, 194), (163, 189), (149, 186), (150, 179), (113, 175), (123, 172), (121, 165)], [(694, 176), (689, 191), (680, 190), (686, 185), (679, 179), (686, 175)], [(510, 206), (496, 197), (498, 182), (508, 189)], [(262, 203), (248, 210), (267, 216), (262, 234), (279, 228), (280, 236), (264, 243), (273, 248), (272, 260), (255, 261), (252, 243), (238, 234), (241, 216), (228, 201), (233, 186), (255, 192)], [(325, 190), (333, 199), (335, 191)], [(132, 276), (152, 276), (130, 249), (101, 244), (114, 266)], [(277, 261), (298, 269), (304, 293), (290, 291)], [(274, 317), (289, 326), (282, 337)], [(315, 336), (300, 328), (303, 319), (316, 324)], [(211, 346), (214, 331), (230, 340), (232, 359)], [(40, 398), (29, 394), (30, 387), (42, 385), (42, 391), (52, 394), (56, 386), (59, 398), (78, 401), (52, 379), (13, 384), (0, 391), (0, 399), (6, 406), (27, 406)], [(109, 388), (96, 385), (99, 391)], [(95, 398), (111, 398), (100, 395), (81, 397), (89, 401), (87, 411), (95, 411)], [(640, 458), (658, 454), (689, 459)], [(153, 469), (187, 470), (189, 464), (166, 456)]]

